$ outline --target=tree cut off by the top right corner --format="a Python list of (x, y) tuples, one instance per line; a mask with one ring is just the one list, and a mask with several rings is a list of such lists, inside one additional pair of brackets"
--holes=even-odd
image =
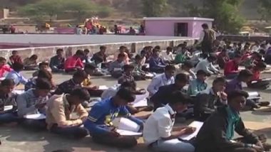
[(271, 19), (271, 1), (270, 0), (259, 0), (260, 6), (258, 12), (262, 15), (262, 19), (269, 21)]

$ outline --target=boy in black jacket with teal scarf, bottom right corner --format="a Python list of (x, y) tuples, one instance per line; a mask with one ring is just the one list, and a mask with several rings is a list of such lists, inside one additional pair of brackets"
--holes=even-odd
[[(257, 152), (269, 151), (265, 143), (252, 134), (240, 117), (245, 106), (247, 92), (235, 90), (227, 96), (228, 106), (218, 108), (204, 122), (195, 139), (195, 152)], [(237, 142), (231, 142), (235, 131), (242, 136)]]

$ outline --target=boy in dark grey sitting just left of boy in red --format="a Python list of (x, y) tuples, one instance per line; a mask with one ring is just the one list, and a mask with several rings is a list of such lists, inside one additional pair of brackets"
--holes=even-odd
[(49, 66), (52, 72), (64, 71), (65, 58), (63, 56), (64, 56), (64, 50), (62, 48), (58, 48), (56, 50), (56, 56), (52, 57), (49, 63)]

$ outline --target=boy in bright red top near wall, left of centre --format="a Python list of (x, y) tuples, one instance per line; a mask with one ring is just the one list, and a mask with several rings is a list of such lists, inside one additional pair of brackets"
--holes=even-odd
[(83, 50), (77, 50), (76, 54), (67, 58), (64, 63), (65, 72), (75, 72), (83, 68), (82, 58), (85, 56)]

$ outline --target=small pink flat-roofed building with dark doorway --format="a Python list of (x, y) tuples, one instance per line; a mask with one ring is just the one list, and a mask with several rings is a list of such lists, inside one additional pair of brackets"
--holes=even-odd
[(214, 19), (212, 18), (143, 18), (145, 22), (146, 36), (183, 36), (199, 38), (200, 31), (203, 31), (201, 25), (208, 23), (212, 27)]

